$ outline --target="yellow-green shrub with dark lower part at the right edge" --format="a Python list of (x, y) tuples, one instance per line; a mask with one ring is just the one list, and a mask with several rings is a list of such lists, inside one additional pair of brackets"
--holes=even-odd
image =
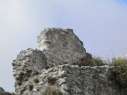
[(127, 88), (127, 59), (113, 59), (110, 79), (121, 88)]

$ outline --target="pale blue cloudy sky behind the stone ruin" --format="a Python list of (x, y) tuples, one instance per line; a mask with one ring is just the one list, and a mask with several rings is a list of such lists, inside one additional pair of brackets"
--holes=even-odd
[(0, 0), (0, 86), (14, 91), (12, 60), (47, 27), (72, 28), (94, 56), (127, 54), (127, 0)]

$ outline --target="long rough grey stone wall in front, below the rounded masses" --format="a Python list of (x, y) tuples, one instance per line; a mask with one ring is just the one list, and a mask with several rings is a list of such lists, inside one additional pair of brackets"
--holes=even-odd
[(120, 91), (119, 87), (108, 79), (109, 68), (106, 65), (59, 65), (44, 69), (40, 75), (30, 77), (20, 86), (19, 92), (20, 95), (42, 95), (47, 78), (55, 77), (64, 95), (126, 95), (126, 91)]

